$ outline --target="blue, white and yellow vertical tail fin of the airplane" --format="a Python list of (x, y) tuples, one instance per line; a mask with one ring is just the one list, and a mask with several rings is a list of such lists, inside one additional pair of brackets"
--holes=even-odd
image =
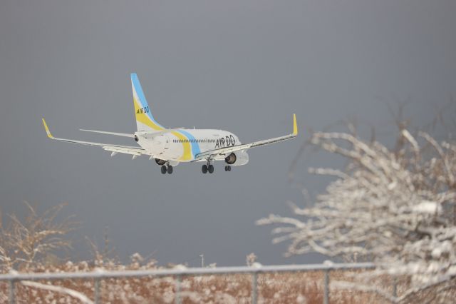
[(147, 104), (138, 75), (131, 74), (133, 88), (133, 103), (135, 104), (136, 126), (138, 131), (162, 131), (165, 128), (155, 121), (152, 109)]

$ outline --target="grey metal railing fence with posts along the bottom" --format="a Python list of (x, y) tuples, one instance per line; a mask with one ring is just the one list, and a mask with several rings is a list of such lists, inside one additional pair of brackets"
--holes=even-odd
[(184, 268), (160, 270), (123, 270), (108, 271), (95, 270), (87, 273), (10, 273), (0, 275), (0, 281), (9, 282), (9, 303), (16, 304), (15, 285), (23, 280), (68, 280), (68, 279), (93, 279), (94, 302), (100, 301), (100, 281), (110, 278), (140, 278), (140, 277), (174, 277), (175, 278), (175, 303), (181, 303), (180, 284), (182, 276), (200, 275), (227, 275), (247, 274), (252, 275), (252, 304), (257, 304), (257, 278), (259, 273), (296, 273), (309, 271), (322, 271), (324, 273), (323, 303), (329, 302), (329, 277), (333, 270), (360, 270), (373, 269), (373, 263), (332, 263), (332, 264), (306, 264), (306, 265), (271, 265), (259, 267), (219, 267), (219, 268)]

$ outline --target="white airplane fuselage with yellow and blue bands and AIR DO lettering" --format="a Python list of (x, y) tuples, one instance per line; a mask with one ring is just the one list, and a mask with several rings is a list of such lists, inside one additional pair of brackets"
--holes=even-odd
[[(199, 153), (241, 144), (233, 133), (212, 129), (178, 129), (160, 136), (138, 131), (135, 135), (138, 144), (149, 151), (150, 155), (173, 162), (195, 161)], [(238, 157), (238, 161), (232, 163), (232, 166), (241, 166), (248, 162), (246, 151), (238, 151), (237, 155), (241, 157)], [(225, 156), (215, 156), (212, 159), (218, 161), (224, 158)]]

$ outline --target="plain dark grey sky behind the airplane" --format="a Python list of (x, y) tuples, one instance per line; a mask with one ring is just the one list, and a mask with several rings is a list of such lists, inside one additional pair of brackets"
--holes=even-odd
[[(283, 258), (285, 245), (254, 221), (300, 202), (286, 173), (308, 127), (356, 117), (383, 131), (386, 104), (405, 100), (413, 121), (432, 119), (455, 94), (455, 13), (455, 1), (418, 0), (1, 1), (1, 209), (68, 202), (64, 215), (83, 222), (76, 258), (89, 257), (83, 237), (102, 243), (108, 226), (123, 259), (320, 261)], [(300, 138), (204, 176), (195, 164), (162, 176), (145, 157), (46, 138), (42, 116), (55, 136), (133, 144), (78, 131), (135, 131), (131, 72), (164, 126), (222, 128), (248, 142), (289, 133), (296, 113)], [(327, 179), (306, 168), (334, 163), (306, 158), (297, 178), (323, 191)]]

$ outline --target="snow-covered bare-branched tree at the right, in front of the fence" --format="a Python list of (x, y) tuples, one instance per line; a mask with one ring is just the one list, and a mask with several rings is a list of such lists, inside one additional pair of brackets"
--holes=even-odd
[[(393, 150), (351, 133), (314, 133), (310, 142), (343, 156), (348, 166), (311, 168), (336, 177), (316, 203), (306, 208), (291, 203), (295, 216), (257, 221), (278, 226), (273, 242), (289, 242), (286, 255), (318, 252), (371, 260), (378, 267), (358, 275), (364, 285), (358, 281), (357, 288), (394, 302), (410, 302), (432, 288), (437, 302), (455, 296), (455, 143), (439, 143), (424, 132), (413, 136), (406, 128)], [(395, 297), (369, 285), (379, 275), (406, 278), (405, 290)]]

